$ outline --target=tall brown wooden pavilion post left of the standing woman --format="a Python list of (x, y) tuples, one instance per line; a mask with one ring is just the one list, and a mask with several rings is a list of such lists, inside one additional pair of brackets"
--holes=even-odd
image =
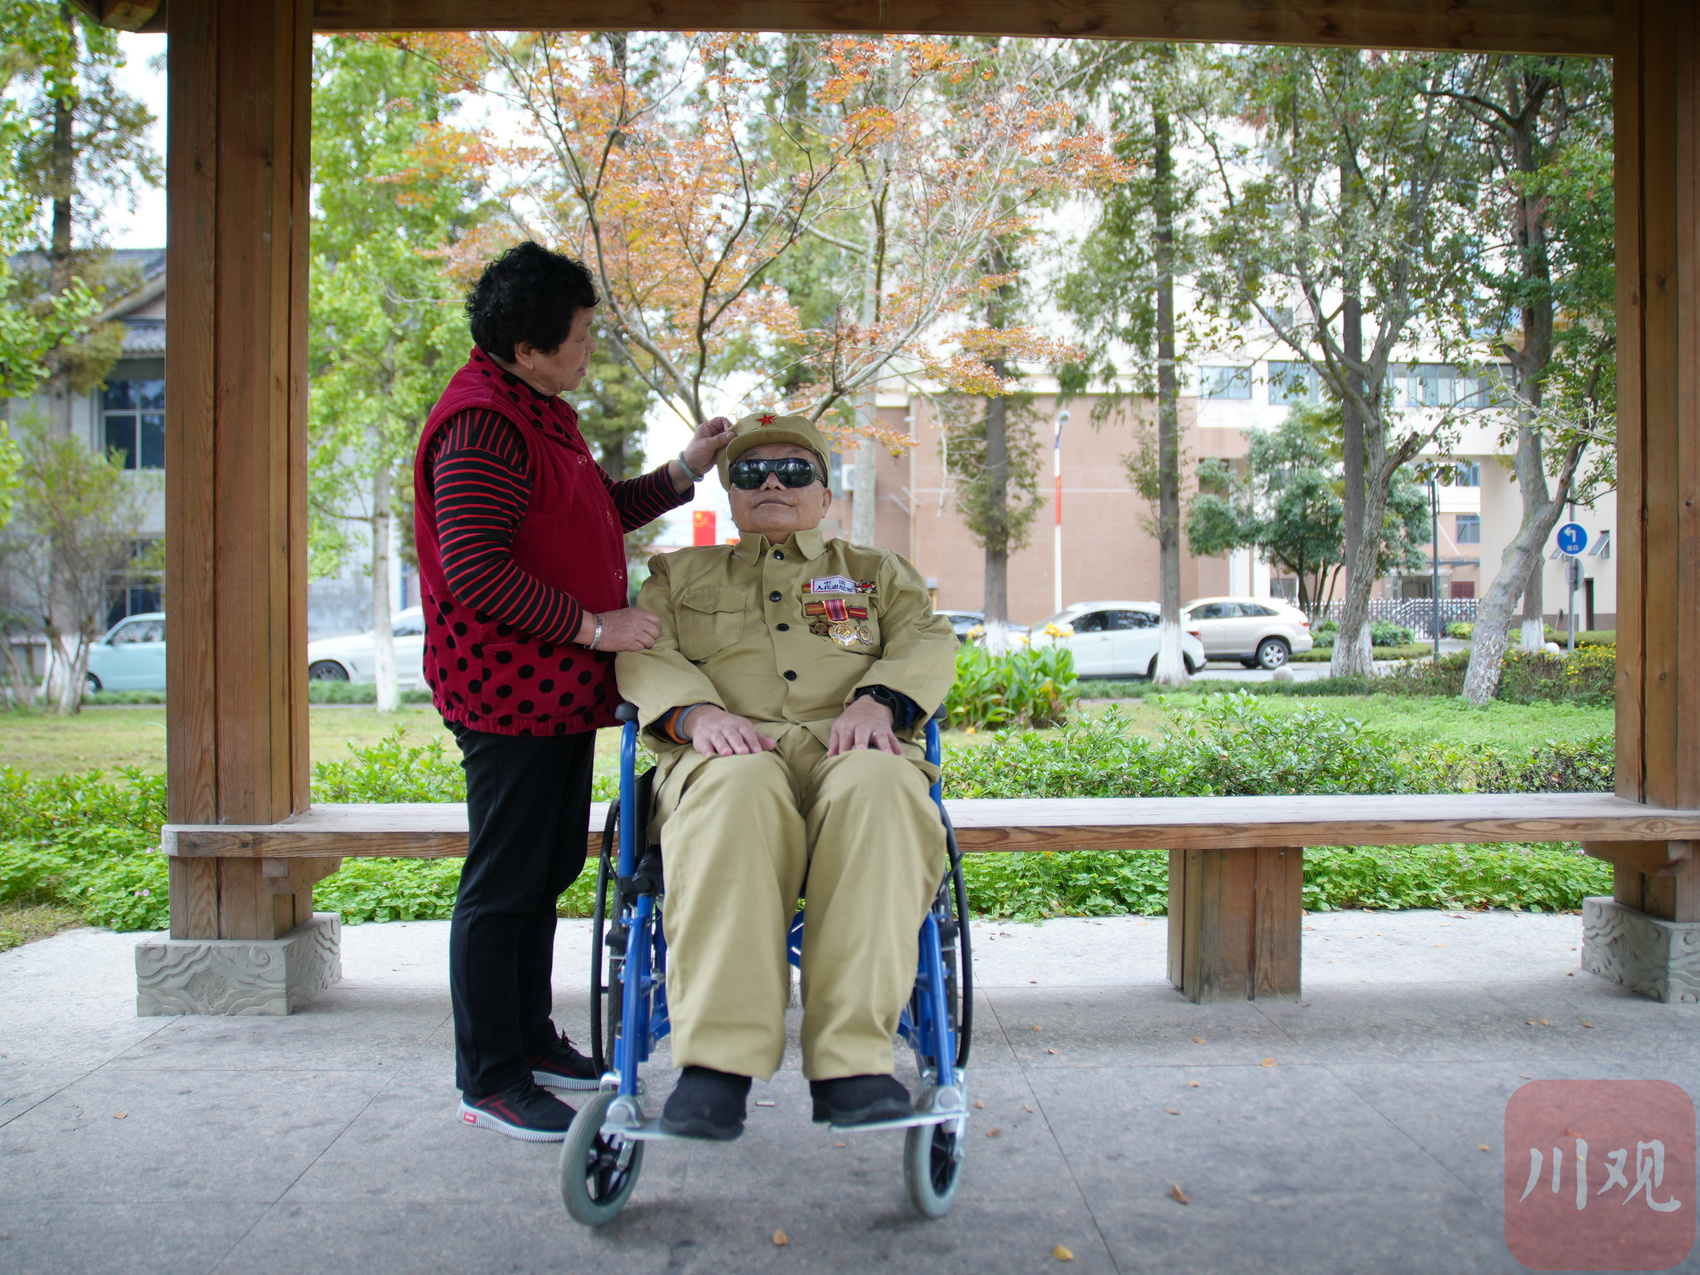
[[(311, 3), (173, 0), (168, 61), (170, 821), (274, 823), (308, 808)], [(201, 978), (216, 994), (194, 1003), (150, 1000), (150, 981), (192, 979), (216, 950), (204, 940), (306, 925), (313, 881), (337, 862), (173, 857), (173, 944), (138, 950), (143, 1012), (252, 1005), (240, 967)], [(318, 947), (333, 950), (328, 930)]]

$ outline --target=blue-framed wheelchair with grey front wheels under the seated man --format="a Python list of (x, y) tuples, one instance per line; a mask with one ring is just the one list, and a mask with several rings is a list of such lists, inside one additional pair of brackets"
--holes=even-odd
[[(609, 808), (597, 862), (592, 915), (590, 1042), (602, 1088), (580, 1108), (561, 1146), (561, 1202), (573, 1221), (602, 1226), (631, 1198), (646, 1142), (678, 1141), (643, 1108), (639, 1064), (668, 1034), (666, 938), (661, 848), (644, 831), (653, 770), (638, 775), (638, 711), (617, 709), (620, 797)], [(938, 716), (926, 722), (926, 760), (938, 765)], [(950, 872), (921, 921), (915, 991), (898, 1035), (915, 1051), (921, 1088), (915, 1115), (864, 1125), (830, 1125), (836, 1134), (904, 1129), (903, 1180), (921, 1217), (944, 1217), (962, 1180), (967, 1151), (967, 1052), (974, 1017), (974, 979), (962, 855), (940, 785), (932, 785), (945, 824)], [(643, 840), (639, 840), (643, 838)], [(639, 848), (643, 847), (643, 848)], [(804, 908), (806, 911), (806, 908)], [(787, 954), (801, 964), (804, 911), (792, 920)]]

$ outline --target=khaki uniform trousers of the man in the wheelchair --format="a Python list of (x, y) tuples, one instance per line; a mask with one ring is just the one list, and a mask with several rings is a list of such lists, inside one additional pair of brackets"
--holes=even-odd
[(792, 728), (716, 756), (666, 821), (663, 925), (673, 1061), (767, 1080), (785, 1052), (785, 933), (802, 926), (802, 1073), (891, 1074), (916, 935), (949, 865), (916, 762), (828, 756)]

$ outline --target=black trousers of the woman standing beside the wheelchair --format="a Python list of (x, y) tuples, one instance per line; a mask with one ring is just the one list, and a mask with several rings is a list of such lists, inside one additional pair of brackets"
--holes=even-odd
[(529, 1080), (554, 1039), (554, 908), (585, 867), (597, 734), (450, 729), (471, 833), (449, 923), (454, 1083), (483, 1098)]

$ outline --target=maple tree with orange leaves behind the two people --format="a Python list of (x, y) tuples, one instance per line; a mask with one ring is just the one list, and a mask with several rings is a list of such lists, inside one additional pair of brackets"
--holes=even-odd
[[(972, 321), (1008, 282), (986, 274), (986, 245), (1030, 236), (1061, 192), (1127, 175), (1034, 42), (403, 42), (517, 122), (457, 150), (505, 211), (461, 241), (466, 264), (515, 233), (581, 255), (604, 294), (598, 335), (690, 423), (767, 406), (901, 449), (906, 434), (855, 411), (877, 388), (1006, 393), (994, 362), (1068, 348)], [(823, 248), (806, 316), (785, 274)]]

